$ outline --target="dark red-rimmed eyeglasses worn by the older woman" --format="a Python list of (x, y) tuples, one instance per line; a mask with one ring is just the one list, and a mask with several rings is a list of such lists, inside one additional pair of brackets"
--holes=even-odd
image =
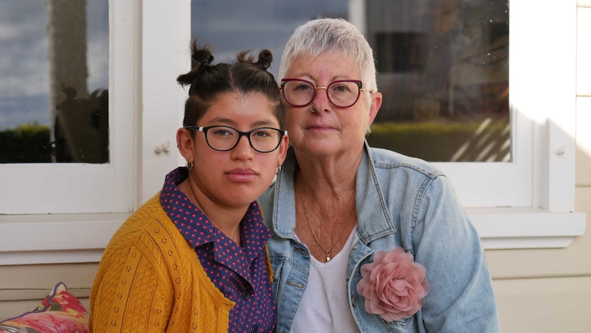
[(368, 91), (361, 86), (360, 80), (337, 80), (330, 82), (326, 87), (316, 87), (312, 82), (302, 79), (281, 80), (285, 101), (295, 107), (308, 106), (314, 99), (317, 89), (324, 89), (330, 103), (339, 108), (348, 108), (357, 103), (361, 91)]

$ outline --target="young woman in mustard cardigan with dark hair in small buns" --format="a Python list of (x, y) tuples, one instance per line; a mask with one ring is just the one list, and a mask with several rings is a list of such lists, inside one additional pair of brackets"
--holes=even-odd
[(94, 332), (271, 332), (275, 325), (271, 232), (256, 202), (287, 151), (280, 90), (267, 67), (242, 52), (213, 65), (193, 41), (197, 65), (177, 132), (186, 167), (123, 223), (91, 292)]

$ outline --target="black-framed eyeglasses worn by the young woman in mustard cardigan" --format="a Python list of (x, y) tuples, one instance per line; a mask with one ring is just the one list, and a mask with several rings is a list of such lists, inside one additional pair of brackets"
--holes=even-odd
[(184, 128), (203, 132), (208, 146), (219, 152), (234, 149), (243, 135), (248, 137), (250, 146), (257, 152), (272, 152), (281, 144), (281, 138), (287, 135), (287, 130), (272, 127), (254, 128), (248, 132), (242, 132), (230, 126), (184, 126)]

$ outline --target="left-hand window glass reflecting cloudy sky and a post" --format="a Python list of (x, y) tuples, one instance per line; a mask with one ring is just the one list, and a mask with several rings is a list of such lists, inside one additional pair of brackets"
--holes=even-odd
[(0, 0), (0, 163), (108, 163), (108, 0)]

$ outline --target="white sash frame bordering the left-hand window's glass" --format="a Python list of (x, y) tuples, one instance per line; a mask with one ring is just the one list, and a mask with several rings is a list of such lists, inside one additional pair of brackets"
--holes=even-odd
[[(121, 5), (118, 5), (122, 7)], [(123, 10), (112, 8), (111, 13)], [(125, 16), (114, 16), (125, 24)], [(118, 22), (117, 22), (118, 21)], [(130, 30), (132, 31), (132, 30)], [(130, 33), (110, 33), (109, 126), (133, 127), (133, 76), (125, 58)], [(133, 209), (133, 141), (129, 131), (110, 131), (110, 163), (17, 163), (0, 165), (1, 214), (82, 214)]]

